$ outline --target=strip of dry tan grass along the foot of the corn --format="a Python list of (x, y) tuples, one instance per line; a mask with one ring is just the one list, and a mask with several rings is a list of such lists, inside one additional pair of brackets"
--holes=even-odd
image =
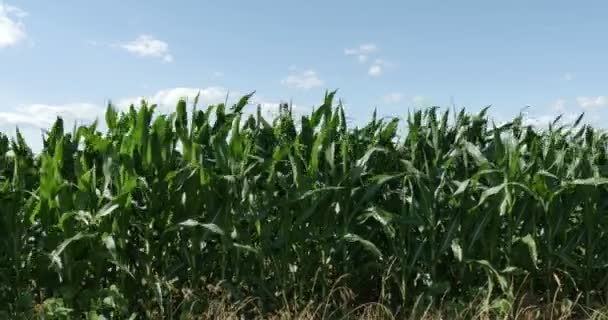
[[(334, 294), (345, 290), (339, 288)], [(347, 293), (347, 292), (343, 292)], [(347, 294), (350, 294), (348, 292)], [(538, 298), (523, 294), (512, 308), (496, 310), (484, 304), (483, 299), (472, 301), (458, 307), (455, 303), (443, 302), (440, 306), (417, 304), (411, 310), (391, 310), (381, 303), (366, 303), (352, 306), (347, 301), (336, 305), (336, 300), (328, 297), (324, 303), (308, 303), (303, 306), (290, 304), (280, 310), (264, 313), (255, 303), (255, 299), (241, 303), (230, 303), (228, 299), (219, 299), (210, 303), (209, 308), (201, 315), (191, 315), (187, 319), (269, 319), (269, 320), (603, 320), (608, 319), (608, 307), (590, 308), (569, 299), (554, 300), (550, 303), (539, 303)]]

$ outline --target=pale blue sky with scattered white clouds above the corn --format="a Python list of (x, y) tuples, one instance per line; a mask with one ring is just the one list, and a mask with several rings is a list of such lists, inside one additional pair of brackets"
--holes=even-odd
[(605, 1), (0, 3), (4, 131), (39, 136), (109, 99), (171, 105), (199, 90), (306, 111), (339, 89), (358, 121), (452, 102), (498, 119), (526, 106), (530, 121), (608, 119)]

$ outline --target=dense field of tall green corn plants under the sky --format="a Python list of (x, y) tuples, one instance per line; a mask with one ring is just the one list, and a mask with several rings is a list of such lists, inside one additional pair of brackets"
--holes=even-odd
[(250, 95), (110, 105), (107, 130), (57, 119), (36, 154), (1, 135), (2, 318), (180, 319), (214, 294), (272, 312), (338, 287), (396, 313), (608, 298), (605, 133), (487, 109), (350, 127), (334, 94), (300, 119)]

